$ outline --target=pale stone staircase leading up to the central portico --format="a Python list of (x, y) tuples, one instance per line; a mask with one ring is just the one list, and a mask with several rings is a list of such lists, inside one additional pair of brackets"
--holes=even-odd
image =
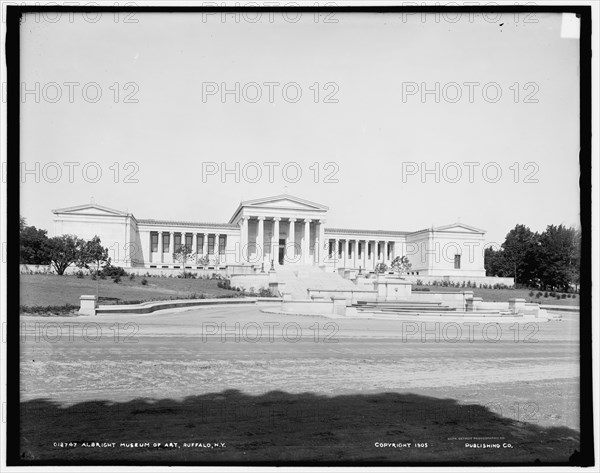
[(325, 272), (318, 266), (287, 265), (275, 269), (277, 282), (285, 283), (282, 295), (292, 299), (307, 299), (308, 289), (324, 291), (356, 291), (356, 285), (334, 272)]

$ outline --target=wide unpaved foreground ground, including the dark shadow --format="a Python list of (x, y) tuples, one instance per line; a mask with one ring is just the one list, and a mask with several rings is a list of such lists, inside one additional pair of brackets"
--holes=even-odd
[(569, 461), (579, 448), (577, 317), (423, 324), (255, 306), (24, 317), (22, 457)]

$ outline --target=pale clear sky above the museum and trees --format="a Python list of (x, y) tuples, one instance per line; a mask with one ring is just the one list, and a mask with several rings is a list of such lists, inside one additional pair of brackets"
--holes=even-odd
[(227, 222), (289, 193), (329, 206), (327, 227), (460, 221), (502, 243), (578, 225), (579, 42), (560, 14), (296, 19), (26, 17), (28, 224), (52, 234), (52, 209), (91, 199)]

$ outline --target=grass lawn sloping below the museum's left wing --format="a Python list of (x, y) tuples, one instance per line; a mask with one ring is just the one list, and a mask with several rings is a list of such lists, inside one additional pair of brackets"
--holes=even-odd
[[(175, 299), (203, 294), (205, 297), (223, 297), (235, 295), (235, 291), (217, 287), (214, 279), (146, 278), (129, 276), (121, 278), (120, 283), (112, 279), (99, 279), (100, 301), (118, 303), (126, 301), (149, 301), (155, 299)], [(79, 306), (79, 296), (96, 294), (96, 281), (89, 276), (79, 279), (76, 276), (57, 276), (43, 274), (21, 274), (20, 305), (22, 306)]]

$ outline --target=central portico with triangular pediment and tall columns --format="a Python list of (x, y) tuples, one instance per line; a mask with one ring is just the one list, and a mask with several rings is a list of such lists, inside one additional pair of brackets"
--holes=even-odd
[(328, 210), (287, 195), (242, 202), (229, 221), (240, 227), (242, 263), (323, 264)]

